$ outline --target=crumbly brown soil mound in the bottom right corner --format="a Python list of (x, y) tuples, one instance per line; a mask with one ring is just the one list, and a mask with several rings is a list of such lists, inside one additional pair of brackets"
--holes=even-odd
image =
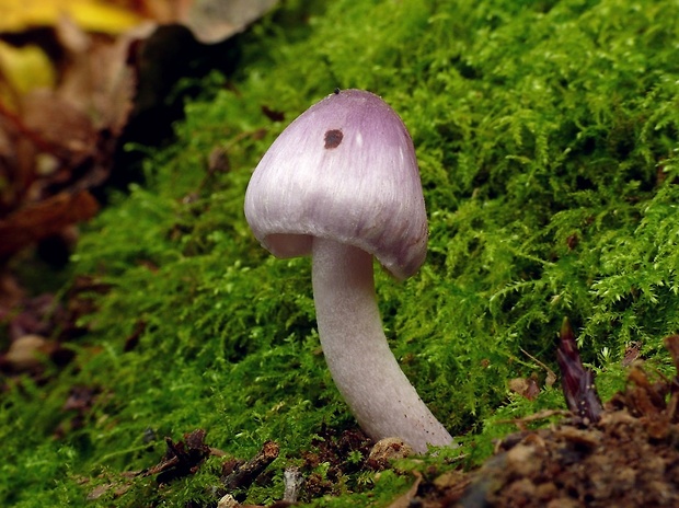
[[(676, 351), (677, 337), (666, 344)], [(635, 366), (596, 424), (578, 417), (513, 434), (480, 470), (423, 478), (402, 506), (679, 506), (678, 403), (677, 378)]]

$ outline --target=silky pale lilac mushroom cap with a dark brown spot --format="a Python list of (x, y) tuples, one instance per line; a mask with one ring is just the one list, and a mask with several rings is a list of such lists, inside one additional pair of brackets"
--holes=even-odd
[(403, 122), (370, 92), (326, 96), (264, 154), (245, 193), (245, 218), (277, 257), (309, 255), (320, 236), (362, 249), (394, 277), (410, 277), (426, 256), (427, 216)]

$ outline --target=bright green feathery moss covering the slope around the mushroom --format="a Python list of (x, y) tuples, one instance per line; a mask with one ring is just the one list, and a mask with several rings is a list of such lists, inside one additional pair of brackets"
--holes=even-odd
[[(197, 427), (233, 457), (267, 439), (281, 444), (271, 484), (250, 494), (264, 503), (280, 496), (283, 467), (323, 424), (354, 425), (323, 362), (308, 259), (271, 257), (242, 213), (258, 158), (335, 86), (381, 94), (413, 135), (429, 255), (404, 284), (378, 274), (380, 307), (404, 371), (441, 422), (465, 435), (470, 463), (510, 428), (498, 422), (563, 406), (556, 386), (529, 402), (507, 382), (544, 379), (522, 350), (556, 369), (564, 316), (605, 395), (622, 386), (631, 342), (669, 366), (661, 338), (679, 330), (677, 3), (319, 5), (308, 24), (310, 7), (295, 2), (257, 24), (229, 86), (206, 80), (176, 142), (149, 153), (147, 183), (89, 228), (74, 269), (111, 290), (85, 319), (77, 368), (2, 395), (0, 504), (84, 503), (107, 475), (158, 460), (162, 442), (149, 444), (149, 429), (176, 439)], [(216, 148), (230, 171), (208, 176)], [(68, 420), (60, 406), (71, 384), (96, 386), (96, 404), (83, 428), (53, 440)], [(32, 422), (38, 429), (26, 432)], [(163, 499), (203, 498), (210, 471)], [(94, 483), (79, 486), (82, 476)], [(375, 487), (354, 480), (318, 504), (382, 506), (407, 484), (385, 476)], [(102, 504), (157, 499), (148, 482)]]

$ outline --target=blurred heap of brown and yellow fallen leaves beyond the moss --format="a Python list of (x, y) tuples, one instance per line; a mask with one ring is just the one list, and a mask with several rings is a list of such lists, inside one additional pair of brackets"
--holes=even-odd
[[(145, 51), (151, 39), (150, 45), (177, 44), (176, 30), (165, 31), (170, 41), (153, 37), (166, 27), (162, 23), (188, 27), (182, 31), (194, 43), (215, 43), (242, 31), (276, 2), (5, 0), (0, 35), (35, 26), (53, 30), (33, 46), (23, 39), (21, 49), (0, 42), (0, 180), (5, 183), (0, 188), (0, 261), (96, 209), (91, 196), (79, 192), (107, 178), (133, 111), (143, 111), (149, 86), (138, 86), (139, 77), (164, 77), (152, 51)], [(59, 57), (50, 61), (47, 55)], [(170, 67), (175, 59), (161, 64)], [(61, 192), (67, 194), (54, 197)], [(65, 207), (64, 196), (77, 206)], [(35, 231), (20, 231), (19, 224)]]

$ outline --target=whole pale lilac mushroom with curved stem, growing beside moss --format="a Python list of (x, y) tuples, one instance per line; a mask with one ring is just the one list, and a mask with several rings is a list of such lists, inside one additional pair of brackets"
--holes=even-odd
[(254, 170), (245, 218), (275, 256), (312, 256), (323, 354), (364, 431), (416, 452), (450, 444), (391, 353), (375, 293), (372, 256), (404, 279), (427, 249), (415, 150), (399, 115), (362, 90), (311, 106)]

